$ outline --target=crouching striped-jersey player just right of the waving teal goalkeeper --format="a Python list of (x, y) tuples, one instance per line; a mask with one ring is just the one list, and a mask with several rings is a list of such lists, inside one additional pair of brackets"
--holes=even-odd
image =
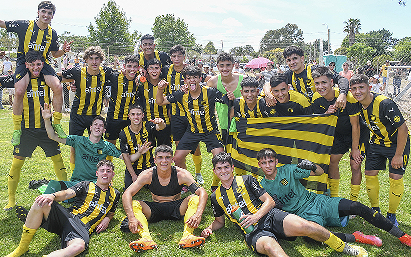
[[(124, 190), (126, 190), (137, 179), (140, 173), (148, 168), (154, 167), (152, 151), (149, 149), (135, 162), (131, 162), (129, 155), (135, 154), (142, 147), (153, 141), (154, 133), (165, 128), (164, 120), (156, 118), (152, 121), (143, 121), (144, 109), (140, 105), (130, 106), (128, 117), (131, 125), (124, 128), (119, 135), (120, 150), (123, 155), (126, 171), (124, 177)], [(130, 172), (131, 171), (131, 172)]]

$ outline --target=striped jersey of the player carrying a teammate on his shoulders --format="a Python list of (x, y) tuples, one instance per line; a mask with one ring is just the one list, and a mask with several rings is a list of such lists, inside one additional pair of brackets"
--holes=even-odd
[[(23, 121), (25, 128), (44, 128), (44, 119), (40, 105), (50, 104), (50, 88), (44, 81), (43, 74), (38, 78), (30, 79), (26, 94), (23, 98)], [(51, 119), (50, 119), (51, 121)]]

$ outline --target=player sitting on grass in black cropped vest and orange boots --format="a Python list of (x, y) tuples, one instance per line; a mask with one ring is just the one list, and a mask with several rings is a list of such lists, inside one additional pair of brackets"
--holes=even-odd
[[(157, 248), (148, 228), (148, 222), (164, 219), (184, 220), (183, 236), (178, 247), (199, 247), (205, 239), (193, 235), (201, 221), (208, 195), (201, 185), (194, 181), (193, 176), (185, 169), (171, 166), (173, 150), (168, 145), (155, 149), (154, 162), (156, 167), (140, 173), (137, 180), (123, 194), (123, 206), (129, 220), (129, 229), (133, 234), (139, 233), (141, 238), (130, 243), (130, 248), (140, 252)], [(183, 184), (196, 195), (181, 199)], [(133, 201), (132, 197), (144, 186), (149, 185), (153, 202)]]

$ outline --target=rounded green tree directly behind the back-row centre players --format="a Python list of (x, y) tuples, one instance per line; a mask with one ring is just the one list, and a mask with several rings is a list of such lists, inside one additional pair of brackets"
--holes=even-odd
[(153, 27), (156, 48), (168, 52), (174, 45), (181, 44), (191, 50), (196, 44), (196, 38), (188, 30), (183, 19), (174, 14), (159, 15), (155, 18)]

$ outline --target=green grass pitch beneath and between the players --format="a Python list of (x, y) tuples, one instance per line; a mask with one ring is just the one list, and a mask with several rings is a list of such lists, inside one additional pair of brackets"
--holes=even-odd
[[(63, 127), (68, 132), (68, 115), (63, 117)], [(0, 110), (0, 207), (7, 204), (7, 179), (8, 172), (12, 161), (13, 147), (10, 144), (12, 134), (12, 120), (11, 111)], [(67, 172), (69, 176), (71, 171), (68, 165), (69, 160), (69, 147), (61, 146), (63, 160), (66, 164)], [(210, 185), (212, 180), (212, 164), (210, 153), (206, 153), (204, 144), (201, 144), (201, 150), (203, 153), (202, 174), (205, 179), (205, 190), (210, 192)], [(114, 159), (116, 166), (116, 175), (114, 177), (114, 187), (120, 190), (124, 181), (125, 165), (122, 160)], [(188, 170), (194, 174), (194, 166), (191, 160), (191, 155), (187, 157)], [(340, 196), (349, 197), (349, 181), (350, 181), (350, 167), (348, 162), (348, 155), (343, 157), (340, 163), (341, 170), (341, 183), (340, 183)], [(29, 190), (28, 182), (33, 179), (55, 179), (54, 169), (50, 159), (45, 158), (43, 151), (37, 148), (32, 158), (27, 158), (22, 168), (20, 183), (17, 188), (17, 204), (29, 208), (33, 203), (34, 198), (38, 195), (38, 191)], [(411, 233), (411, 214), (410, 214), (410, 182), (409, 176), (404, 178), (405, 192), (404, 197), (400, 203), (400, 207), (397, 211), (397, 219), (400, 223), (400, 228), (406, 233)], [(383, 171), (380, 174), (380, 207), (383, 213), (388, 209), (388, 172)], [(186, 193), (189, 195), (189, 193)], [(151, 200), (151, 196), (148, 190), (142, 189), (134, 199)], [(360, 202), (369, 206), (369, 200), (366, 195), (365, 181), (363, 179), (361, 185), (361, 191), (359, 196)], [(161, 221), (157, 223), (149, 224), (154, 241), (158, 244), (157, 250), (146, 251), (144, 253), (135, 253), (128, 247), (128, 243), (138, 238), (137, 235), (131, 233), (123, 233), (120, 230), (119, 224), (122, 217), (125, 216), (122, 203), (120, 202), (118, 209), (116, 210), (114, 219), (110, 222), (108, 229), (100, 234), (93, 233), (89, 248), (82, 253), (81, 257), (129, 257), (129, 256), (167, 256), (167, 257), (182, 257), (182, 256), (194, 256), (194, 257), (214, 257), (214, 256), (245, 256), (252, 257), (255, 255), (243, 242), (243, 236), (240, 231), (234, 226), (233, 223), (226, 220), (226, 226), (214, 232), (200, 249), (185, 249), (180, 250), (177, 248), (177, 243), (180, 240), (183, 232), (183, 222), (178, 221)], [(212, 221), (212, 210), (210, 202), (207, 202), (205, 212), (203, 214), (202, 222), (198, 229), (194, 231), (196, 235), (199, 235), (201, 231), (207, 227)], [(2, 211), (0, 210), (0, 255), (5, 255), (13, 251), (20, 240), (22, 225), (14, 213), (14, 211)], [(383, 241), (382, 247), (374, 247), (369, 245), (362, 245), (367, 249), (369, 256), (393, 256), (403, 257), (410, 256), (411, 249), (402, 245), (399, 240), (389, 233), (382, 231), (374, 226), (364, 223), (364, 220), (355, 218), (350, 221), (346, 228), (328, 228), (332, 231), (352, 233), (357, 230), (361, 230), (366, 234), (375, 234), (379, 236)], [(33, 241), (30, 244), (30, 251), (24, 255), (26, 257), (38, 257), (43, 254), (48, 254), (54, 250), (60, 248), (60, 238), (51, 234), (44, 229), (39, 229), (34, 236)], [(298, 238), (294, 242), (280, 241), (285, 252), (289, 256), (295, 257), (342, 257), (344, 254), (337, 253), (331, 248), (323, 245), (312, 244), (305, 242), (302, 238)]]

